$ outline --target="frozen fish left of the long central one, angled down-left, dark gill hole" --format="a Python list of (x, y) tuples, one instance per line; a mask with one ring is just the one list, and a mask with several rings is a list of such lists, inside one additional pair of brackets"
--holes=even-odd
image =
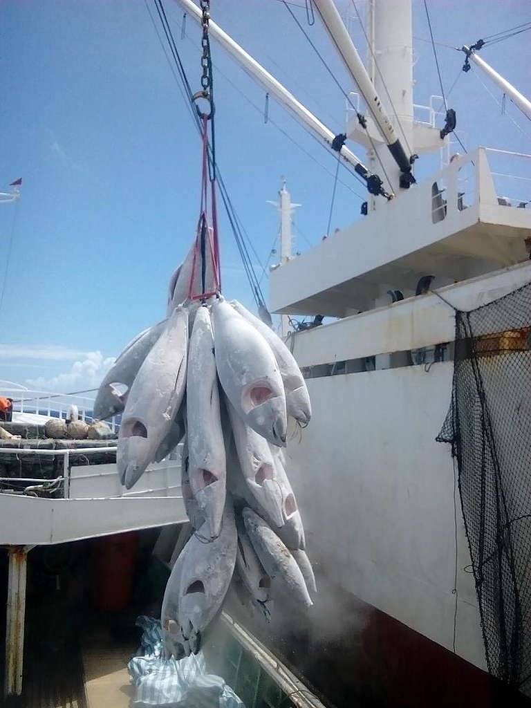
[(116, 464), (131, 489), (153, 461), (183, 401), (188, 314), (175, 309), (132, 384), (118, 436)]

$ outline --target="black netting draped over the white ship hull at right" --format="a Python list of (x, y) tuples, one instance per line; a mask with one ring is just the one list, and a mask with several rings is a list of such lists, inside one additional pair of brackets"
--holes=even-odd
[(456, 312), (451, 442), (489, 671), (531, 695), (531, 283)]

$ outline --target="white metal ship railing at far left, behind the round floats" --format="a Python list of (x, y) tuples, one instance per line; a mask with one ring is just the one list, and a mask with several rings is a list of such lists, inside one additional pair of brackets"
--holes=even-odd
[[(94, 398), (81, 394), (53, 393), (48, 391), (21, 389), (12, 384), (2, 385), (0, 395), (13, 399), (13, 413), (35, 413), (47, 418), (62, 418), (65, 420), (70, 406), (75, 405), (79, 417), (86, 423), (93, 421)], [(113, 432), (120, 429), (120, 416), (113, 416), (105, 421)]]

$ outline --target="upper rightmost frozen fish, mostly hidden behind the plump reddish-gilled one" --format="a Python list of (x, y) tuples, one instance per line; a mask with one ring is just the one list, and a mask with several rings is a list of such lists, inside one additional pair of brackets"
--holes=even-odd
[(237, 302), (237, 300), (233, 300), (231, 304), (236, 312), (239, 312), (242, 317), (261, 333), (273, 351), (280, 370), (282, 382), (284, 383), (288, 415), (293, 416), (293, 418), (299, 421), (299, 423), (302, 423), (302, 425), (307, 425), (309, 419), (312, 417), (312, 406), (310, 404), (308, 389), (304, 383), (299, 365), (295, 361), (295, 357), (287, 346), (285, 346), (285, 343), (280, 339), (278, 334), (273, 332), (265, 322), (255, 317), (248, 309)]

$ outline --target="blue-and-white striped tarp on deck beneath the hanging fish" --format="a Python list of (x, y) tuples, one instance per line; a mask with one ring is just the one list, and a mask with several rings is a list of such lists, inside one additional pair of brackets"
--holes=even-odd
[(127, 664), (137, 687), (135, 704), (175, 708), (245, 708), (220, 676), (206, 673), (202, 651), (185, 658), (165, 658), (159, 619), (141, 615), (144, 630), (138, 656)]

